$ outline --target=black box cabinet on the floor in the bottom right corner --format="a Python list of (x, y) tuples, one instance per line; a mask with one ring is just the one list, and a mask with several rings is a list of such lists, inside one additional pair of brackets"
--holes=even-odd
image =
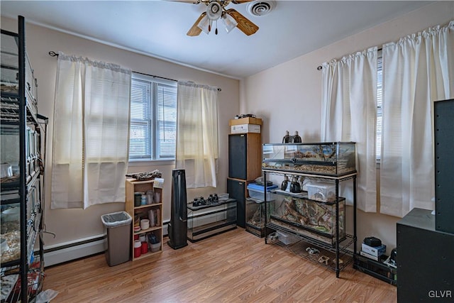
[(436, 231), (430, 210), (397, 222), (397, 302), (454, 302), (454, 234)]

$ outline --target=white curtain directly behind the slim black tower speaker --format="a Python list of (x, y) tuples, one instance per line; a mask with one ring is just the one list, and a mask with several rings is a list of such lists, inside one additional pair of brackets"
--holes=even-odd
[(176, 168), (188, 188), (216, 187), (218, 166), (218, 89), (178, 82)]

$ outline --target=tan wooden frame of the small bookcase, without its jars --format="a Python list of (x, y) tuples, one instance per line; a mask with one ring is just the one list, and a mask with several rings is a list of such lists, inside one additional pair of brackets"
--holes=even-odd
[[(140, 206), (134, 206), (134, 193), (135, 192), (147, 192), (148, 189), (153, 189), (153, 192), (158, 192), (160, 196), (160, 201), (153, 203), (153, 204), (145, 204)], [(162, 252), (162, 189), (155, 187), (155, 180), (148, 180), (148, 181), (136, 181), (135, 179), (127, 179), (126, 180), (126, 211), (128, 214), (131, 215), (133, 218), (133, 224), (131, 224), (131, 258), (132, 260), (140, 260), (143, 258), (147, 258), (150, 255), (155, 255), (156, 253)], [(135, 221), (140, 219), (149, 219), (148, 218), (148, 211), (150, 210), (159, 210), (159, 216), (157, 216), (157, 225), (150, 226), (147, 229), (141, 229), (140, 231), (134, 231), (134, 223)], [(151, 220), (150, 220), (151, 221)], [(134, 256), (134, 241), (138, 236), (143, 234), (147, 235), (149, 233), (154, 233), (155, 236), (160, 241), (160, 248), (159, 250), (152, 252), (150, 247), (148, 248), (147, 253), (141, 253), (139, 257)]]

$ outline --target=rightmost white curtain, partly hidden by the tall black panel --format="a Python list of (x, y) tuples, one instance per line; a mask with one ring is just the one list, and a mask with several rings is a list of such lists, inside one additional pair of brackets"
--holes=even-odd
[(454, 21), (383, 46), (380, 212), (433, 209), (433, 101), (454, 97)]

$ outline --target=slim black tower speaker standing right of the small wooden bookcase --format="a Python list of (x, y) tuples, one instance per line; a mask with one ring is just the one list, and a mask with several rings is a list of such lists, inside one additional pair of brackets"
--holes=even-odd
[(172, 170), (172, 201), (167, 229), (169, 233), (167, 244), (171, 248), (187, 246), (187, 194), (184, 170)]

